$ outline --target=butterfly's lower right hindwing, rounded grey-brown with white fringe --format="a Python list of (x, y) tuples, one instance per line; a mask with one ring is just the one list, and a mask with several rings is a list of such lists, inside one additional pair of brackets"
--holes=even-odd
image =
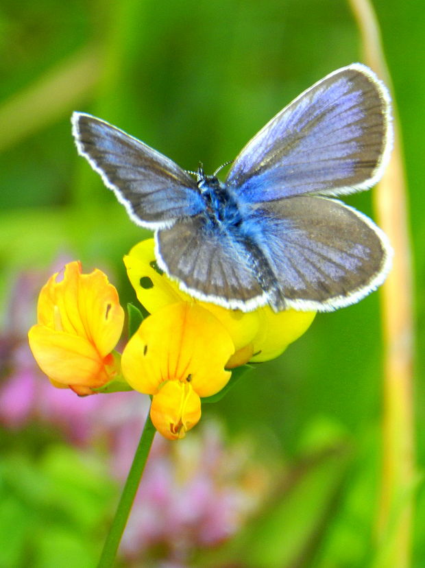
[(383, 283), (391, 265), (383, 231), (328, 198), (260, 203), (245, 233), (265, 255), (287, 306), (296, 309), (330, 311), (355, 303)]

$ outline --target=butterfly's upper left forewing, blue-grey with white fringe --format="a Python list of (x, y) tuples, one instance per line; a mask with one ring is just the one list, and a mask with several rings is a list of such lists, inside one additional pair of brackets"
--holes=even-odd
[(138, 225), (156, 229), (204, 209), (195, 180), (166, 156), (109, 123), (73, 113), (78, 152)]

